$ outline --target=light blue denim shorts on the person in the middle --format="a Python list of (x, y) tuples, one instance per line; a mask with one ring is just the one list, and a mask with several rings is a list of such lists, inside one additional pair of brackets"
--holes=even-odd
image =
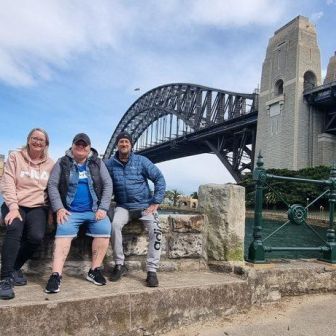
[(63, 224), (57, 224), (56, 237), (77, 237), (79, 227), (86, 226), (86, 235), (90, 237), (110, 237), (111, 222), (106, 216), (99, 221), (93, 211), (71, 212), (68, 220)]

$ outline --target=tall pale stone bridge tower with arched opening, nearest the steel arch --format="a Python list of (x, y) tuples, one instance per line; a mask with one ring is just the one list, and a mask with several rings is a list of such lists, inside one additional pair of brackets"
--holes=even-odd
[(298, 170), (316, 164), (323, 115), (312, 115), (303, 91), (321, 83), (314, 25), (298, 16), (270, 39), (263, 63), (256, 153), (267, 168)]

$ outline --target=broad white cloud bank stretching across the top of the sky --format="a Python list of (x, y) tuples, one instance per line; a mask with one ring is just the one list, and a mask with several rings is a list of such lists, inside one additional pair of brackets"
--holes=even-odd
[[(284, 4), (271, 0), (2, 0), (0, 80), (30, 86), (53, 78), (80, 54), (108, 49), (136, 55), (144, 43), (191, 43), (200, 26), (274, 24)], [(260, 13), (268, 13), (260, 15)], [(181, 34), (180, 28), (184, 30)], [(121, 54), (118, 54), (120, 57)], [(178, 59), (176, 60), (178, 63)]]

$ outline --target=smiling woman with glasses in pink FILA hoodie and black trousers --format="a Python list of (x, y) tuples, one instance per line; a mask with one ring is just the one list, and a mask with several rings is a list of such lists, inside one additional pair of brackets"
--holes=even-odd
[(26, 146), (10, 153), (5, 165), (1, 213), (6, 234), (1, 251), (0, 299), (14, 298), (14, 285), (27, 284), (21, 267), (40, 246), (46, 231), (47, 182), (54, 165), (48, 146), (47, 132), (34, 128)]

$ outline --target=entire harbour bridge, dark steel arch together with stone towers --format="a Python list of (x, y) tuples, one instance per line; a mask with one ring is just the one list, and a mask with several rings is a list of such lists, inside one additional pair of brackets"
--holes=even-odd
[(237, 182), (253, 170), (259, 151), (268, 168), (329, 165), (336, 161), (336, 53), (323, 85), (320, 63), (315, 27), (298, 16), (270, 39), (259, 92), (156, 87), (126, 111), (104, 158), (127, 131), (134, 151), (154, 163), (213, 153)]

